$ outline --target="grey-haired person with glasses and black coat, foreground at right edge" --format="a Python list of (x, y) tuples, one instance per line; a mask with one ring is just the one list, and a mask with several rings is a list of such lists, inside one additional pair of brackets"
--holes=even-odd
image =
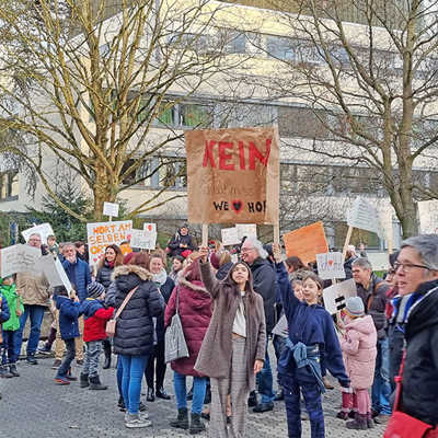
[(411, 295), (399, 408), (434, 427), (425, 437), (438, 437), (438, 235), (406, 239), (394, 269), (400, 296)]

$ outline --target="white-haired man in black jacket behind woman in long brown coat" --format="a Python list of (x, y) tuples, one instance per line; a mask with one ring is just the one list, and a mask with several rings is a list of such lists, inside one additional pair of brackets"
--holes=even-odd
[[(247, 238), (242, 245), (241, 255), (242, 260), (250, 265), (253, 274), (254, 290), (263, 297), (266, 338), (268, 338), (275, 325), (276, 274), (270, 263), (266, 260), (267, 252), (257, 239)], [(265, 362), (263, 370), (257, 374), (257, 382), (262, 401), (253, 411), (255, 413), (272, 411), (274, 408), (275, 393), (273, 391), (273, 371), (270, 369), (267, 343)], [(252, 395), (252, 401), (256, 403), (255, 395)]]

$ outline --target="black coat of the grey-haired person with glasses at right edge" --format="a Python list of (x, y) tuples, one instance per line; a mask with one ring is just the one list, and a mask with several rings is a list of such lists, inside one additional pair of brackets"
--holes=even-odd
[(411, 308), (405, 326), (406, 360), (402, 411), (430, 425), (438, 424), (438, 281), (414, 292), (424, 296)]

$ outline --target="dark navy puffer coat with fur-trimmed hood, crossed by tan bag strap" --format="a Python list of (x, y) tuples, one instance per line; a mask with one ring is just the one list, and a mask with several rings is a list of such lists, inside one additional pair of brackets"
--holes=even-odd
[(142, 356), (153, 350), (152, 316), (164, 311), (164, 299), (152, 281), (152, 275), (140, 266), (117, 266), (113, 273), (116, 287), (115, 312), (131, 289), (138, 286), (117, 320), (114, 353)]

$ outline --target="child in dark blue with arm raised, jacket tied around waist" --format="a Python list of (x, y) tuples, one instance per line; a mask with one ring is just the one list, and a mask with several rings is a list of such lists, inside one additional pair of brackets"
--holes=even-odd
[(289, 437), (301, 437), (300, 392), (309, 413), (312, 438), (324, 438), (321, 393), (325, 392), (321, 364), (348, 388), (343, 355), (332, 315), (319, 304), (323, 283), (313, 273), (303, 279), (303, 298), (292, 291), (279, 249), (275, 249), (277, 283), (288, 321), (289, 336), (278, 361), (278, 377), (284, 390)]

